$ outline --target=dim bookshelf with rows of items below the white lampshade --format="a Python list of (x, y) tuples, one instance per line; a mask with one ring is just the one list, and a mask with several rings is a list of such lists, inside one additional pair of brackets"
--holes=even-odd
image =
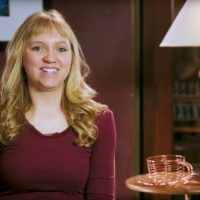
[(174, 50), (173, 152), (200, 163), (200, 59), (198, 48)]

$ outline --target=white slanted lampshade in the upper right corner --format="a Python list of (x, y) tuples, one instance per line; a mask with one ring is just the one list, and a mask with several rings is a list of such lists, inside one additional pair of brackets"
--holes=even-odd
[(187, 0), (160, 47), (200, 47), (200, 0)]

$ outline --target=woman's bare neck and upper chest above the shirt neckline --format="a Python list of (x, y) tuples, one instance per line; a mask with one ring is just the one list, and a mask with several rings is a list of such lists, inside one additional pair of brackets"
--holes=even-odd
[(26, 113), (26, 119), (41, 133), (62, 132), (68, 122), (61, 109), (62, 91), (30, 91), (32, 107)]

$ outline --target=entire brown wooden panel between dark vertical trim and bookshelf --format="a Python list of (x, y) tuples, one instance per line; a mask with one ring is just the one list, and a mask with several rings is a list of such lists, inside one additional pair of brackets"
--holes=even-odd
[[(171, 2), (143, 0), (143, 166), (150, 155), (172, 150), (171, 49), (160, 48), (171, 23)], [(145, 195), (145, 199), (170, 199)]]

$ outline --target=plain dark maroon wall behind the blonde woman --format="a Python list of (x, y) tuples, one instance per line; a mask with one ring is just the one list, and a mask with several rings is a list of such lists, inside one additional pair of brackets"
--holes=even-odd
[[(47, 5), (66, 16), (91, 67), (89, 81), (99, 93), (97, 100), (109, 105), (115, 114), (117, 200), (131, 200), (134, 193), (124, 182), (135, 172), (137, 156), (133, 1), (51, 0)], [(3, 63), (0, 53), (0, 65)]]

